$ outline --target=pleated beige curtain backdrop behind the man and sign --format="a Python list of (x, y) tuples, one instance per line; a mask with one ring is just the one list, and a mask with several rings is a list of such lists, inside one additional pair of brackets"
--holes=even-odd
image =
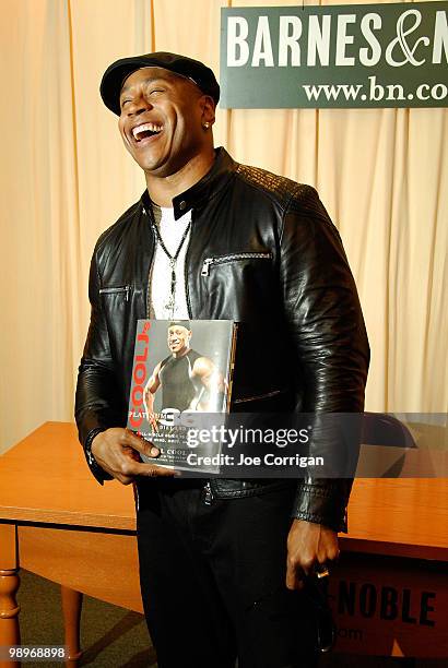
[[(227, 4), (297, 2), (0, 0), (0, 452), (72, 419), (92, 249), (144, 188), (98, 95), (105, 68), (173, 50), (219, 72)], [(448, 408), (447, 121), (447, 109), (217, 114), (216, 144), (314, 184), (338, 225), (372, 344), (370, 410)]]

